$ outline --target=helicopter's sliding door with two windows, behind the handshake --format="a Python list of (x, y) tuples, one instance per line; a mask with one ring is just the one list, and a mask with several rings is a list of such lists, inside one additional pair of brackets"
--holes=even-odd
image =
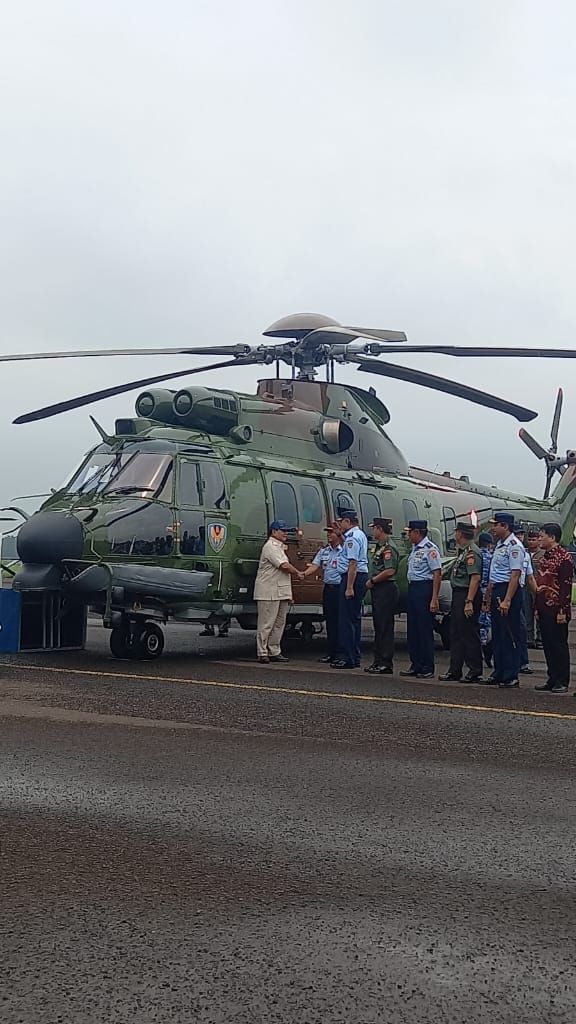
[[(326, 543), (326, 503), (321, 486), (310, 476), (295, 473), (266, 473), (270, 518), (283, 519), (289, 527), (288, 559), (304, 569), (318, 549)], [(322, 582), (308, 577), (292, 580), (294, 604), (322, 605)]]

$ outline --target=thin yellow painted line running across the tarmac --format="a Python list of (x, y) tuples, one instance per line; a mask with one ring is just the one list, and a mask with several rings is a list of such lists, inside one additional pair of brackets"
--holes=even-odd
[(306, 690), (292, 686), (262, 686), (260, 683), (222, 683), (213, 679), (187, 679), (181, 676), (146, 676), (134, 672), (96, 672), (93, 669), (58, 669), (42, 665), (11, 665), (11, 669), (27, 672), (52, 672), (60, 676), (95, 676), (98, 679), (135, 679), (147, 683), (180, 683), (222, 690), (248, 690), (257, 693), (287, 693), (291, 696), (330, 697), (335, 700), (359, 700), (367, 703), (409, 705), (413, 708), (442, 708), (449, 711), (475, 711), (494, 715), (516, 715), (521, 718), (553, 718), (576, 722), (576, 714), (563, 715), (556, 711), (526, 711), (522, 708), (491, 708), (488, 705), (455, 703), (449, 700), (424, 700), (418, 697), (386, 697), (371, 693), (341, 693), (331, 690)]

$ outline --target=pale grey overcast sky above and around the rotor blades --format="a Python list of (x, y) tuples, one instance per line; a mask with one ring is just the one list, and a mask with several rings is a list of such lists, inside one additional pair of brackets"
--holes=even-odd
[[(0, 4), (0, 350), (257, 342), (299, 310), (414, 344), (576, 347), (569, 0)], [(573, 362), (418, 364), (576, 445)], [(183, 369), (181, 358), (169, 366)], [(0, 499), (95, 438), (40, 404), (163, 358), (4, 366)], [(353, 368), (415, 465), (541, 494), (502, 414)], [(255, 370), (196, 383), (251, 390)], [(178, 386), (178, 385), (175, 385)], [(106, 427), (135, 395), (90, 410)]]

